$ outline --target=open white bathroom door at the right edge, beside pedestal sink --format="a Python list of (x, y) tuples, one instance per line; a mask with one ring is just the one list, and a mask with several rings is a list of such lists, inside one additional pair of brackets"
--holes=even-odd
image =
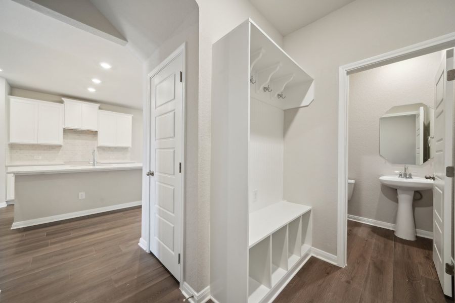
[(452, 163), (453, 88), (446, 80), (447, 66), (453, 66), (453, 51), (444, 52), (435, 78), (433, 262), (444, 294), (451, 296), (451, 276), (445, 273), (451, 257), (451, 180), (445, 168)]

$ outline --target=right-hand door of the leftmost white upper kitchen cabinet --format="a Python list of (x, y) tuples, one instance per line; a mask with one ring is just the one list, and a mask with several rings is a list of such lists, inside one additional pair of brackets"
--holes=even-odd
[(63, 105), (38, 105), (38, 144), (63, 144)]

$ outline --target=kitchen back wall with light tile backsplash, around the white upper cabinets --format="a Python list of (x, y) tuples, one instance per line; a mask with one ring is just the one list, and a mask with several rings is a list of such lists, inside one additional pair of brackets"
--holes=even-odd
[[(62, 103), (62, 96), (25, 90), (12, 87), (11, 95), (24, 98)], [(10, 144), (7, 147), (7, 163), (9, 165), (38, 165), (59, 162), (82, 162), (92, 158), (93, 148), (97, 149), (98, 160), (103, 162), (134, 161), (142, 162), (143, 123), (142, 111), (101, 104), (100, 109), (133, 115), (131, 147), (98, 147), (98, 133), (67, 130), (63, 131), (63, 146)], [(35, 159), (35, 156), (41, 157)]]

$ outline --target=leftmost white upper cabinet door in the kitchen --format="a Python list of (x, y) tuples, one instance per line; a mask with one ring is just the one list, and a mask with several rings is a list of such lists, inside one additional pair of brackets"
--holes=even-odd
[(38, 104), (10, 99), (10, 143), (38, 143)]

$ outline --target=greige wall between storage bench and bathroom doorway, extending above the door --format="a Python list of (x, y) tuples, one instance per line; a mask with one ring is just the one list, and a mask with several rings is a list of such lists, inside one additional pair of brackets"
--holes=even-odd
[(451, 0), (357, 0), (284, 38), (315, 79), (314, 102), (285, 113), (284, 164), (285, 198), (313, 207), (314, 247), (336, 254), (338, 68), (450, 33), (453, 12)]

